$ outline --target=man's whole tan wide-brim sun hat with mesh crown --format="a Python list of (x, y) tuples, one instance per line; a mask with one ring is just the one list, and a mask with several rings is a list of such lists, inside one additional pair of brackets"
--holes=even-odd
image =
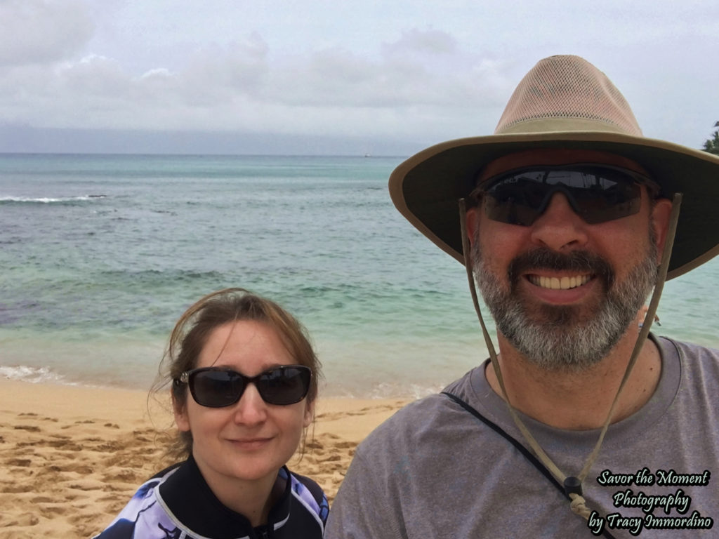
[(416, 229), (464, 264), (457, 201), (487, 163), (528, 149), (620, 155), (644, 167), (661, 196), (683, 193), (667, 280), (719, 254), (719, 157), (644, 137), (609, 78), (574, 55), (540, 60), (517, 86), (493, 135), (442, 142), (402, 162), (390, 175), (390, 196)]

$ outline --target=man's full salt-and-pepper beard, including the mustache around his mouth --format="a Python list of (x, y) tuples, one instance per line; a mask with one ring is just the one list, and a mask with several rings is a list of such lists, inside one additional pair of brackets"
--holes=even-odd
[[(646, 256), (624, 282), (615, 282), (608, 262), (596, 255), (538, 249), (510, 264), (509, 291), (484, 264), (477, 239), (475, 234), (471, 252), (475, 280), (498, 331), (528, 361), (550, 371), (582, 372), (601, 361), (636, 320), (656, 281), (654, 234), (650, 234)], [(603, 280), (604, 295), (583, 320), (578, 318), (580, 309), (571, 305), (543, 305), (539, 315), (531, 317), (516, 293), (520, 269), (528, 268), (590, 272)]]

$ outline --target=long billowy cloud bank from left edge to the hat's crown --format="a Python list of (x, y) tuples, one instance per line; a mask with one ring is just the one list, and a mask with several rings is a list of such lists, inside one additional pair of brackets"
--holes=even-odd
[[(377, 57), (335, 47), (278, 58), (255, 33), (202, 47), (175, 72), (134, 76), (97, 55), (15, 66), (0, 73), (0, 118), (60, 128), (411, 134), (447, 109), (500, 106), (509, 87), (501, 67), (463, 55), (436, 30), (405, 32)], [(416, 118), (402, 118), (410, 109)]]

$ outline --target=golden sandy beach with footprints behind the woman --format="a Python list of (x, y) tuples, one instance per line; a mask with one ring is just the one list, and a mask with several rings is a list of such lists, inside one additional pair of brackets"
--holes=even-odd
[[(145, 479), (171, 464), (169, 410), (147, 393), (0, 379), (0, 536), (89, 538)], [(357, 443), (404, 401), (322, 399), (291, 469), (328, 498)], [(313, 436), (312, 436), (313, 435)]]

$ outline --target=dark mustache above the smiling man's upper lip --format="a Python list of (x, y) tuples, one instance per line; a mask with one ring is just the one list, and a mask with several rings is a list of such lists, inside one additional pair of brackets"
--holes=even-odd
[(512, 287), (518, 285), (520, 276), (532, 270), (589, 273), (603, 280), (605, 288), (614, 283), (614, 271), (605, 259), (587, 251), (558, 253), (549, 249), (533, 249), (514, 257), (507, 273)]

